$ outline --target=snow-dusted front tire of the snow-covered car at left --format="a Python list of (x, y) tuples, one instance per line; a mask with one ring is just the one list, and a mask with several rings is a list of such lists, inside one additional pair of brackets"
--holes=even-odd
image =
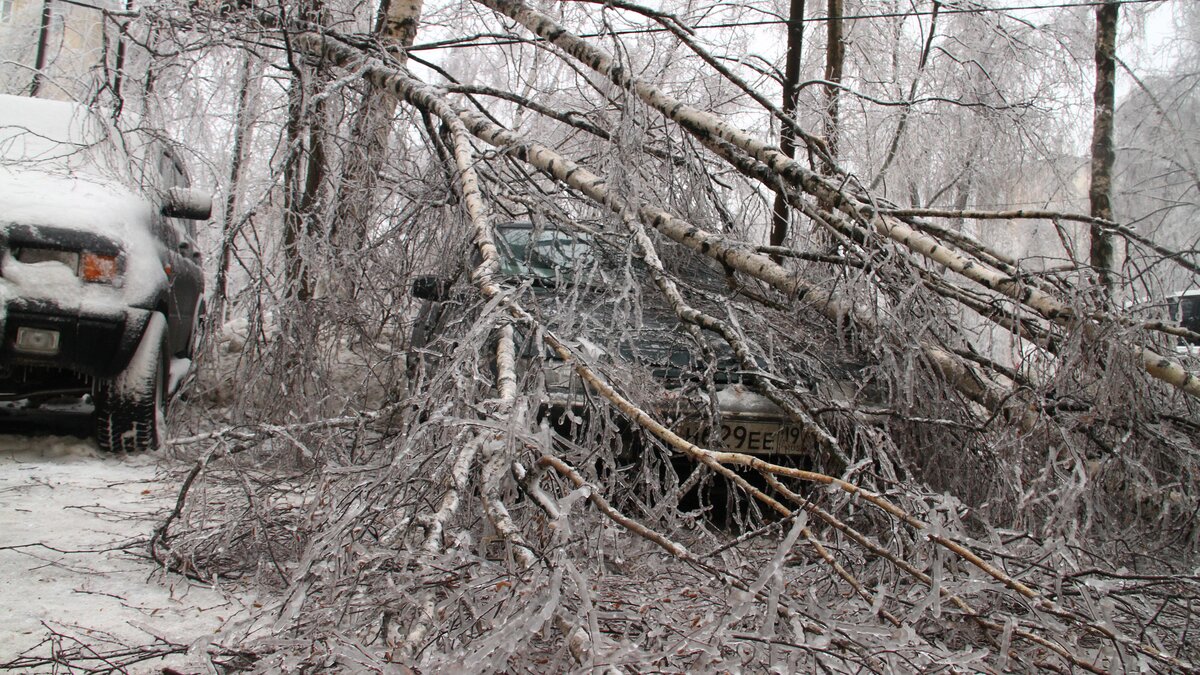
[(96, 383), (96, 440), (102, 450), (134, 453), (162, 446), (167, 352), (167, 318), (154, 312), (130, 365)]

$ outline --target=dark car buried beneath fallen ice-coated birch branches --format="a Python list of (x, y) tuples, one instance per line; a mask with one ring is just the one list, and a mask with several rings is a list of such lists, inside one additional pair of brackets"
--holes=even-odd
[[(654, 412), (671, 422), (697, 443), (719, 443), (721, 449), (748, 454), (804, 454), (805, 436), (792, 425), (784, 411), (751, 387), (751, 378), (736, 363), (732, 351), (720, 340), (707, 345), (715, 354), (708, 368), (703, 350), (684, 329), (674, 312), (642, 298), (636, 318), (613, 294), (622, 283), (626, 263), (608, 255), (587, 235), (566, 233), (527, 222), (496, 227), (505, 285), (518, 293), (523, 306), (552, 329), (569, 327), (576, 338), (572, 347), (598, 364), (623, 386), (649, 382), (649, 389), (665, 390), (654, 402)], [(644, 270), (632, 265), (634, 274)], [(720, 273), (692, 269), (697, 283), (720, 287)], [(448, 322), (460, 315), (463, 303), (455, 298), (448, 280), (420, 276), (413, 294), (425, 300), (414, 323), (409, 372), (419, 376), (428, 362), (438, 360), (437, 338)], [(619, 328), (618, 328), (619, 327)], [(528, 375), (538, 369), (545, 381), (547, 411), (582, 414), (587, 393), (574, 369), (544, 350), (533, 336), (518, 328), (518, 369)], [(540, 353), (539, 353), (540, 352)], [(707, 387), (706, 370), (712, 377)], [(709, 424), (713, 402), (720, 431)], [(560, 416), (554, 416), (560, 417)]]

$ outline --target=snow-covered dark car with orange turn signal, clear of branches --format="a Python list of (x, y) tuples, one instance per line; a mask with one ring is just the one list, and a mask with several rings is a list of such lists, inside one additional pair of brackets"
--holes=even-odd
[(0, 96), (0, 401), (90, 395), (103, 449), (156, 448), (203, 312), (210, 210), (161, 135)]

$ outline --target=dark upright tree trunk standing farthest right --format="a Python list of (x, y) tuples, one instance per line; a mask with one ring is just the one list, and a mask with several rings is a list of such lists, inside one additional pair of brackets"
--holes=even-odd
[[(1092, 118), (1092, 216), (1112, 220), (1112, 113), (1116, 80), (1117, 13), (1120, 4), (1108, 0), (1096, 10), (1096, 92)], [(1097, 223), (1091, 226), (1091, 263), (1104, 292), (1112, 293), (1112, 237)]]

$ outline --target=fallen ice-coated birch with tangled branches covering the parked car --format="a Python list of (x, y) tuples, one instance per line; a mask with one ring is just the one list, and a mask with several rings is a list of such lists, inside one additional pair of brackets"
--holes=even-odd
[[(1069, 213), (900, 209), (634, 77), (545, 13), (480, 4), (592, 86), (595, 114), (545, 114), (588, 141), (508, 129), (457, 94), (469, 88), (421, 82), (358, 36), (257, 14), (230, 24), (334, 85), (395, 96), (444, 172), (428, 189), (439, 205), (376, 233), (378, 259), (362, 253), (392, 295), (330, 293), (331, 313), (371, 316), (416, 268), (439, 275), (456, 313), (422, 347), (436, 366), (388, 378), (386, 405), (175, 440), (203, 459), (155, 556), (276, 590), (215, 652), (264, 671), (1198, 669), (1200, 384), (1164, 356), (1195, 335), (1112, 306), (1085, 271), (1031, 271), (948, 222), (1087, 222), (1194, 261)], [(596, 112), (610, 106), (616, 120)], [(680, 192), (712, 203), (683, 213)], [(754, 211), (725, 208), (775, 193), (823, 245), (762, 250)], [(528, 283), (505, 282), (504, 220), (616, 256), (601, 294), (624, 323), (608, 317), (608, 338), (658, 303), (703, 357), (695, 377), (626, 372), (613, 348), (588, 347), (605, 339), (588, 307), (551, 317)], [(470, 263), (412, 262), (402, 234), (437, 228)], [(403, 274), (386, 269), (397, 250), (412, 256)], [(349, 342), (323, 330), (314, 345)], [(264, 342), (278, 352), (250, 358), (294, 368), (294, 346)], [(809, 456), (732, 452), (676, 424), (664, 401), (715, 398), (713, 345), (804, 430)], [(558, 418), (551, 362), (586, 398)]]

